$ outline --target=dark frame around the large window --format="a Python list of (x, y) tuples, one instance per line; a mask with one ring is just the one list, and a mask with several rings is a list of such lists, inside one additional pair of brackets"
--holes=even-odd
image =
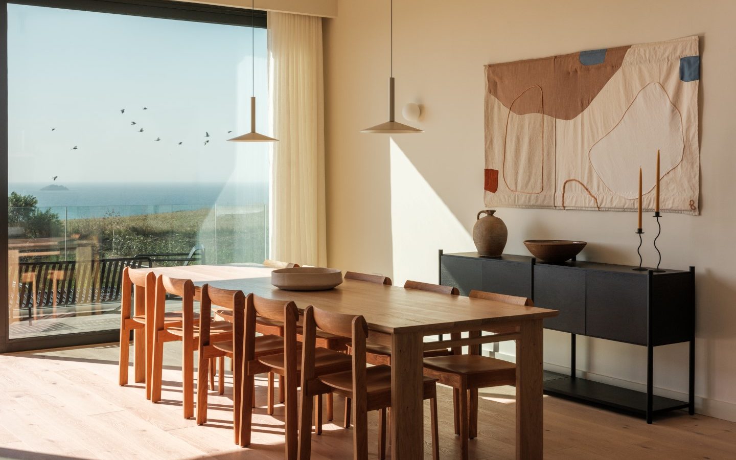
[[(236, 7), (220, 7), (173, 0), (6, 0), (0, 11), (0, 149), (4, 160), (1, 160), (0, 186), (7, 190), (8, 186), (8, 86), (7, 86), (7, 5), (23, 4), (37, 7), (52, 7), (63, 10), (81, 10), (92, 13), (113, 13), (120, 15), (141, 16), (146, 18), (173, 19), (178, 21), (204, 22), (229, 26), (254, 26), (266, 28), (266, 12)], [(4, 253), (8, 252), (7, 219), (8, 210), (4, 207), (1, 216), (5, 224), (0, 224), (0, 240)], [(8, 259), (2, 258), (0, 263), (0, 353), (13, 353), (45, 348), (73, 347), (89, 344), (118, 342), (120, 333), (113, 331), (96, 331), (71, 333), (63, 336), (40, 336), (21, 339), (10, 339), (10, 319), (8, 312)], [(4, 308), (3, 308), (4, 305)]]

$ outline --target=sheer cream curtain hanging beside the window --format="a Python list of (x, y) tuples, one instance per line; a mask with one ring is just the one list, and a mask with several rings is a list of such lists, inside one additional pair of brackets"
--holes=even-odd
[(271, 258), (325, 266), (322, 18), (268, 13)]

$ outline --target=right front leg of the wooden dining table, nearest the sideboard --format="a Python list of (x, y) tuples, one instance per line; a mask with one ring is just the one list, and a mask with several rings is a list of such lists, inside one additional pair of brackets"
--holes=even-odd
[(542, 320), (522, 322), (516, 341), (516, 458), (542, 460)]

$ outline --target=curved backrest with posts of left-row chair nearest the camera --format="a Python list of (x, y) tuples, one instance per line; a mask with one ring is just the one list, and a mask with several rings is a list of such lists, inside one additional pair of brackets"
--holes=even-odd
[[(362, 315), (335, 313), (309, 305), (304, 310), (302, 340), (302, 391), (314, 379), (314, 350), (316, 329), (327, 333), (350, 337), (353, 341), (353, 406), (355, 414), (367, 409), (366, 392), (366, 339), (368, 325)], [(362, 391), (361, 391), (362, 390)]]

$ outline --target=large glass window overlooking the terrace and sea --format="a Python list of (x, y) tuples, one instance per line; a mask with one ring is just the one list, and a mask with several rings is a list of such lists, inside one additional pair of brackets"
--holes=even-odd
[(262, 26), (8, 4), (7, 66), (11, 340), (117, 329), (125, 266), (266, 258), (268, 146), (227, 142), (254, 87), (269, 131)]

